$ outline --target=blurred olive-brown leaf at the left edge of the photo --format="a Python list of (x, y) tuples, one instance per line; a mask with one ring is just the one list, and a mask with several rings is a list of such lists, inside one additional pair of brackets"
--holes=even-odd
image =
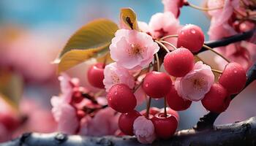
[(23, 94), (23, 80), (18, 74), (1, 71), (0, 74), (0, 96), (7, 101), (15, 110)]

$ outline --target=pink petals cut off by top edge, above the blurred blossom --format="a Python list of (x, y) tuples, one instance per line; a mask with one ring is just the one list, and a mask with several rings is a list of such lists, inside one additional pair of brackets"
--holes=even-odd
[(162, 4), (164, 4), (165, 12), (172, 12), (173, 15), (178, 18), (180, 14), (180, 7), (182, 7), (183, 0), (162, 0)]

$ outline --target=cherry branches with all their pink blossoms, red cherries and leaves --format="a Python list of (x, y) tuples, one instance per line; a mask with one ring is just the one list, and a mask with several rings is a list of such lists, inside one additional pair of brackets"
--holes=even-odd
[[(94, 60), (86, 77), (97, 92), (80, 87), (78, 80), (61, 74), (61, 94), (53, 96), (51, 104), (58, 131), (64, 134), (23, 134), (13, 142), (19, 145), (41, 141), (42, 145), (255, 144), (256, 118), (214, 126), (218, 115), (256, 77), (255, 56), (247, 53), (255, 49), (255, 13), (249, 7), (251, 3), (226, 0), (225, 4), (217, 4), (219, 7), (203, 8), (183, 0), (162, 2), (165, 12), (153, 15), (148, 24), (138, 21), (132, 9), (123, 8), (119, 26), (111, 20), (99, 19), (76, 31), (55, 63), (58, 71), (64, 72)], [(238, 4), (242, 9), (233, 7)], [(168, 9), (170, 5), (172, 9)], [(199, 26), (180, 25), (178, 15), (183, 6), (208, 11), (209, 38), (217, 41), (205, 42)], [(233, 52), (226, 53), (230, 47)], [(220, 58), (225, 68), (214, 69), (206, 64), (199, 55), (205, 50)], [(238, 64), (242, 59), (237, 61), (237, 55), (246, 64)], [(164, 100), (162, 109), (151, 107), (154, 99)], [(177, 111), (187, 110), (194, 101), (200, 101), (210, 112), (200, 118), (195, 128), (176, 131), (180, 120)], [(146, 109), (137, 111), (136, 107), (143, 102)], [(118, 137), (102, 137), (105, 135)]]

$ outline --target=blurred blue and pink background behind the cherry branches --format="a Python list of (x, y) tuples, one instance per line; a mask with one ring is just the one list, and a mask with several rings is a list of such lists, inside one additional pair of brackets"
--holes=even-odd
[[(189, 1), (196, 5), (202, 5), (204, 2)], [(24, 131), (56, 130), (56, 123), (50, 115), (50, 97), (59, 94), (59, 81), (56, 65), (50, 62), (57, 57), (67, 39), (90, 20), (109, 18), (118, 23), (121, 7), (132, 7), (138, 15), (138, 20), (146, 23), (154, 13), (163, 12), (160, 0), (0, 1), (0, 89), (10, 90), (4, 95), (12, 97), (9, 102), (11, 108), (15, 107), (15, 112), (21, 112), (24, 121), (28, 121), (26, 118), (29, 117), (30, 122), (26, 122), (27, 124), (35, 125), (25, 126), (17, 132), (17, 135)], [(181, 9), (180, 22), (200, 26), (207, 36), (210, 21), (203, 12), (184, 7)], [(209, 64), (212, 62), (208, 53), (203, 53), (201, 56), (208, 59), (206, 62)], [(71, 77), (79, 77), (83, 85), (87, 85), (85, 72), (86, 65), (81, 64), (70, 69), (68, 73)], [(253, 82), (237, 96), (216, 123), (233, 123), (255, 116), (255, 87)], [(4, 98), (4, 95), (1, 96)], [(5, 101), (1, 99), (0, 102)], [(157, 107), (163, 105), (161, 100), (154, 101), (154, 104)], [(0, 112), (5, 110), (4, 106), (4, 104), (0, 106)], [(138, 107), (140, 110), (143, 108)], [(35, 112), (43, 112), (45, 115), (39, 117)], [(200, 102), (193, 102), (189, 110), (180, 112), (179, 129), (191, 128), (206, 112)]]

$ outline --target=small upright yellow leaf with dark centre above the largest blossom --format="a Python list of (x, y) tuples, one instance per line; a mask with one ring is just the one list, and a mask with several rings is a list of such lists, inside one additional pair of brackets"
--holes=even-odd
[(123, 8), (120, 12), (121, 26), (127, 26), (127, 28), (140, 31), (138, 27), (137, 16), (131, 8)]

